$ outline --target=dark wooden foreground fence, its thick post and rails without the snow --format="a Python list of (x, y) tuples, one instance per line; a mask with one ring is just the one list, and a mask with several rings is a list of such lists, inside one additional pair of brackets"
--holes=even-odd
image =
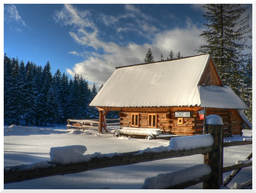
[[(252, 141), (234, 141), (231, 143), (223, 144), (223, 127), (222, 125), (207, 125), (207, 131), (213, 135), (214, 143), (210, 147), (200, 147), (190, 150), (181, 150), (170, 152), (144, 152), (139, 154), (136, 152), (119, 153), (113, 157), (93, 157), (89, 161), (70, 163), (70, 164), (55, 164), (50, 163), (51, 166), (40, 168), (31, 167), (31, 165), (19, 165), (4, 168), (4, 183), (21, 182), (30, 179), (43, 178), (54, 175), (74, 174), (84, 172), (92, 169), (106, 168), (120, 165), (130, 165), (147, 161), (161, 160), (173, 157), (183, 157), (195, 154), (204, 154), (204, 163), (212, 168), (211, 175), (203, 176), (202, 178), (193, 181), (185, 182), (167, 189), (183, 189), (191, 185), (203, 182), (204, 189), (218, 189), (222, 185), (222, 173), (232, 171), (234, 169), (241, 169), (252, 165), (249, 164), (236, 164), (232, 166), (223, 167), (223, 147), (230, 147), (236, 145), (252, 144)], [(248, 158), (251, 158), (249, 156)], [(232, 178), (231, 178), (232, 179)]]

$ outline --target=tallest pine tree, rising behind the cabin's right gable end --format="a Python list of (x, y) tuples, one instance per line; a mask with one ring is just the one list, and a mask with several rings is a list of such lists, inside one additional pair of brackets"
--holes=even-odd
[(249, 15), (241, 19), (245, 13), (245, 7), (240, 4), (206, 4), (202, 6), (207, 12), (203, 14), (208, 31), (200, 35), (207, 45), (201, 45), (199, 53), (210, 53), (216, 63), (221, 79), (225, 85), (239, 95), (240, 67), (247, 57), (242, 54), (245, 49), (251, 49), (246, 45), (248, 35), (251, 32)]

